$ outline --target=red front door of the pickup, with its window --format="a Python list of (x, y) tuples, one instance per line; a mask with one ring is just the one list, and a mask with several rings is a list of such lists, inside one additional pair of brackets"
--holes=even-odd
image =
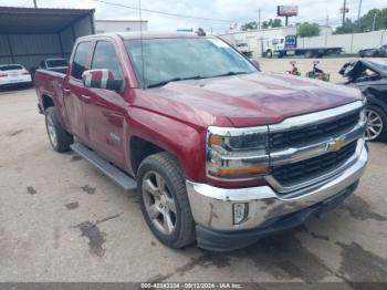
[[(115, 79), (124, 80), (122, 65), (114, 42), (95, 43), (91, 70), (107, 69)], [(100, 155), (125, 168), (124, 128), (127, 103), (123, 94), (105, 89), (86, 89), (85, 126), (88, 144)]]

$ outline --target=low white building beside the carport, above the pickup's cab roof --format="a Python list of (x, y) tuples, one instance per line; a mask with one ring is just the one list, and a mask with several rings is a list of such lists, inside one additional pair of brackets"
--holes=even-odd
[(95, 20), (96, 33), (148, 30), (148, 20)]

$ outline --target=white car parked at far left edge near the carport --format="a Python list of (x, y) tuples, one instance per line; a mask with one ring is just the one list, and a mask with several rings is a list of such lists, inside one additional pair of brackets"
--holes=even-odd
[(31, 74), (21, 64), (0, 65), (0, 89), (32, 85)]

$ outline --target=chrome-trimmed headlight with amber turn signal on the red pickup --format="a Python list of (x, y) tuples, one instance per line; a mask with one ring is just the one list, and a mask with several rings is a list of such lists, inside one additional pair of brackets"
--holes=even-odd
[(207, 176), (217, 179), (251, 179), (268, 174), (268, 127), (210, 126), (206, 145)]

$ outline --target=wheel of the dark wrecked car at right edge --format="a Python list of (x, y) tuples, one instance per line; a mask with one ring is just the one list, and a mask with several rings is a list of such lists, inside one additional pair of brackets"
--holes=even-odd
[[(367, 120), (367, 126), (365, 132), (366, 141), (387, 141), (387, 114), (384, 110), (376, 105), (368, 105), (366, 108), (367, 118), (370, 116), (372, 120)], [(381, 126), (381, 127), (380, 127)], [(374, 131), (370, 130), (374, 128)]]

